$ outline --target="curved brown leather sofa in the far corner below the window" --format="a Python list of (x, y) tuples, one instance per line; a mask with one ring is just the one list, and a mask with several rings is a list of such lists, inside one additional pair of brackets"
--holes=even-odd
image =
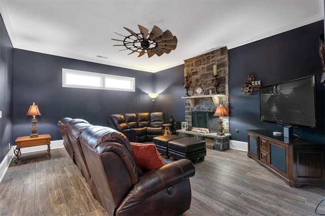
[(164, 121), (165, 114), (161, 112), (112, 114), (108, 125), (122, 132), (131, 142), (144, 142), (164, 134)]

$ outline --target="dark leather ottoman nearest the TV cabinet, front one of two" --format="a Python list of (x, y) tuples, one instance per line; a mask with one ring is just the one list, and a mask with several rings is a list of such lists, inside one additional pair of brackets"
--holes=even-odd
[(205, 140), (183, 137), (168, 142), (168, 155), (172, 158), (204, 160), (207, 155)]

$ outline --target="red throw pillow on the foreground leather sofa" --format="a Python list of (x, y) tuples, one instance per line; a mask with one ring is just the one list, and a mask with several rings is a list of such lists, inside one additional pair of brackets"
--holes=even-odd
[(166, 165), (153, 144), (130, 142), (137, 166), (143, 169), (158, 169)]

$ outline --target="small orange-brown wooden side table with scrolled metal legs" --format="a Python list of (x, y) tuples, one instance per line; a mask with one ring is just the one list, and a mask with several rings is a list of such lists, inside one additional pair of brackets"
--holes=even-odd
[(18, 137), (15, 142), (17, 144), (17, 147), (14, 151), (14, 154), (16, 155), (15, 163), (18, 163), (19, 158), (21, 156), (20, 149), (25, 147), (33, 147), (33, 146), (43, 146), (47, 145), (47, 155), (51, 157), (50, 151), (51, 151), (51, 135), (50, 134), (40, 134), (38, 137), (29, 137), (29, 136), (20, 136)]

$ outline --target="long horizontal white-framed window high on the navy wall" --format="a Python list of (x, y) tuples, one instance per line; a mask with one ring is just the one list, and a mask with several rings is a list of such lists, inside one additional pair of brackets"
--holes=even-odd
[(92, 73), (88, 71), (62, 68), (62, 87), (135, 91), (133, 77)]

